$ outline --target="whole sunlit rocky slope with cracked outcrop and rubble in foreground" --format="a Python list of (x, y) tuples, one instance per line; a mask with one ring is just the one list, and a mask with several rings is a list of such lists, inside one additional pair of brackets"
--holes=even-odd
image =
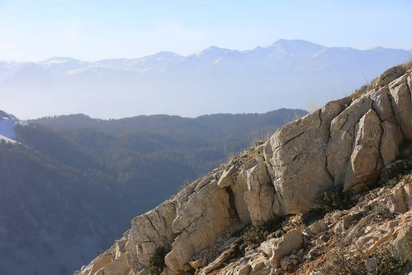
[[(404, 267), (412, 179), (393, 189), (385, 182), (408, 165), (411, 89), (411, 72), (393, 67), (363, 93), (282, 126), (133, 219), (122, 239), (79, 274), (150, 274), (162, 249), (168, 253), (161, 274), (367, 274), (394, 259)], [(326, 194), (338, 205), (347, 197), (347, 207), (332, 203), (328, 214), (308, 222), (319, 201), (328, 204)], [(263, 233), (266, 241), (239, 248), (239, 230), (281, 217), (275, 232)]]

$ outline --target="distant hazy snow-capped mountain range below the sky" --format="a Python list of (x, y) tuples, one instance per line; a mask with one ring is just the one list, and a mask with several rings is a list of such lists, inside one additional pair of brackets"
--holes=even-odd
[(0, 100), (23, 118), (302, 109), (309, 101), (321, 104), (350, 93), (411, 56), (412, 50), (356, 50), (281, 39), (242, 52), (212, 46), (190, 56), (159, 52), (96, 62), (67, 57), (3, 61)]

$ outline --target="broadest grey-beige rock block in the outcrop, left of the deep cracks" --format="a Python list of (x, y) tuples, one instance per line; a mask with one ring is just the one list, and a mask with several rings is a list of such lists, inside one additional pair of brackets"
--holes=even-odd
[(271, 177), (285, 213), (310, 209), (321, 190), (332, 188), (325, 147), (330, 122), (342, 109), (339, 102), (329, 102), (322, 109), (277, 129), (266, 145), (265, 157), (273, 170)]

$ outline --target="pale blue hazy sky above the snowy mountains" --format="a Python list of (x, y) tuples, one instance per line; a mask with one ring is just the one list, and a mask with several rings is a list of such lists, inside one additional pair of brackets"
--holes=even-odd
[(412, 1), (0, 0), (0, 60), (84, 61), (277, 39), (411, 49)]

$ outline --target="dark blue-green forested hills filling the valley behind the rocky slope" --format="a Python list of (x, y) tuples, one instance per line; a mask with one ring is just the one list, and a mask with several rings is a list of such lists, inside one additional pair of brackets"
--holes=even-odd
[[(176, 193), (185, 181), (306, 113), (279, 109), (121, 120), (63, 115), (16, 124), (19, 143), (0, 142), (5, 225), (0, 251), (19, 247), (7, 256), (19, 274), (33, 265), (38, 267), (31, 269), (34, 274), (71, 274), (119, 239), (130, 219)], [(73, 257), (73, 251), (82, 254)], [(8, 265), (0, 273), (8, 274)]]

